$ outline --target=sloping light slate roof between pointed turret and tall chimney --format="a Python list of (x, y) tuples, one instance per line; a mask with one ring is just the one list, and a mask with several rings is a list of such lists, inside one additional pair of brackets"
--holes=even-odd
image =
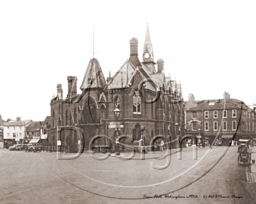
[(134, 73), (136, 67), (130, 61), (126, 61), (124, 65), (115, 73), (108, 84), (109, 89), (122, 89), (129, 87), (129, 79)]

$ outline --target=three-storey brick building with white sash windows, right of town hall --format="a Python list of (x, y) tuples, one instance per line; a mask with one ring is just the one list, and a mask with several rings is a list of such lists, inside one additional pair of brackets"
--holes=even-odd
[(229, 145), (232, 139), (238, 141), (255, 136), (255, 113), (243, 101), (230, 98), (204, 101), (191, 99), (186, 101), (185, 110), (186, 135), (200, 134), (209, 144), (219, 140), (222, 145)]

